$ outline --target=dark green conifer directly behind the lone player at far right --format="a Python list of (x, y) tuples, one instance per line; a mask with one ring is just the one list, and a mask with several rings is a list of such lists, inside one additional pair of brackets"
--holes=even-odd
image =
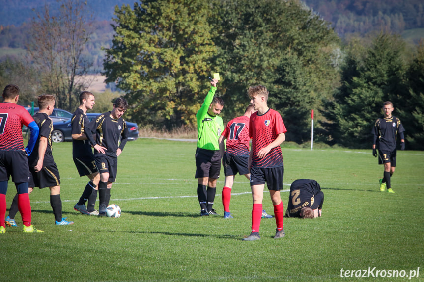
[(382, 103), (390, 100), (395, 108), (402, 104), (405, 93), (403, 48), (404, 43), (397, 36), (380, 34), (363, 57), (358, 53), (348, 54), (342, 68), (342, 85), (325, 112), (336, 125), (327, 127), (334, 130), (333, 143), (369, 148), (371, 128), (381, 113)]

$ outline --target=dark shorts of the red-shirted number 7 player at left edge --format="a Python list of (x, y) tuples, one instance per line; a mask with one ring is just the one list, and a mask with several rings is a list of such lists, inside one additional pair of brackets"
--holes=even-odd
[(27, 152), (21, 150), (0, 151), (0, 181), (23, 183), (29, 181)]

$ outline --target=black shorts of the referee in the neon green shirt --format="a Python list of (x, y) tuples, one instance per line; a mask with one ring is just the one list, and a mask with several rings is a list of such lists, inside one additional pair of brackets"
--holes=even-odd
[(221, 154), (219, 150), (196, 149), (196, 176), (219, 178), (221, 172)]

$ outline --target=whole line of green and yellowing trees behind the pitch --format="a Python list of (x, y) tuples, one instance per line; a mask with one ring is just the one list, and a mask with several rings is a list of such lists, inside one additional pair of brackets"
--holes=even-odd
[[(43, 15), (51, 20), (40, 14), (40, 25)], [(67, 30), (62, 36), (69, 34), (70, 29), (62, 30)], [(77, 34), (85, 40), (90, 29), (84, 30)], [(382, 103), (391, 100), (406, 128), (407, 148), (423, 150), (422, 44), (411, 48), (399, 36), (381, 32), (345, 45), (329, 22), (297, 0), (146, 0), (116, 6), (113, 30), (103, 74), (125, 93), (131, 105), (126, 115), (141, 127), (196, 128), (208, 77), (219, 72), (217, 95), (225, 101), (225, 120), (243, 113), (250, 85), (263, 84), (270, 91), (269, 105), (283, 116), (288, 141), (311, 139), (314, 109), (317, 141), (370, 148), (373, 123)], [(72, 56), (49, 61), (48, 52), (33, 45), (32, 50), (34, 67), (0, 64), (1, 84), (25, 76), (24, 88), (32, 93), (28, 101), (35, 89), (61, 95), (62, 107), (73, 109), (86, 86), (69, 77), (84, 73), (87, 62)], [(68, 72), (61, 75), (46, 68), (69, 60), (76, 64), (63, 64)]]

